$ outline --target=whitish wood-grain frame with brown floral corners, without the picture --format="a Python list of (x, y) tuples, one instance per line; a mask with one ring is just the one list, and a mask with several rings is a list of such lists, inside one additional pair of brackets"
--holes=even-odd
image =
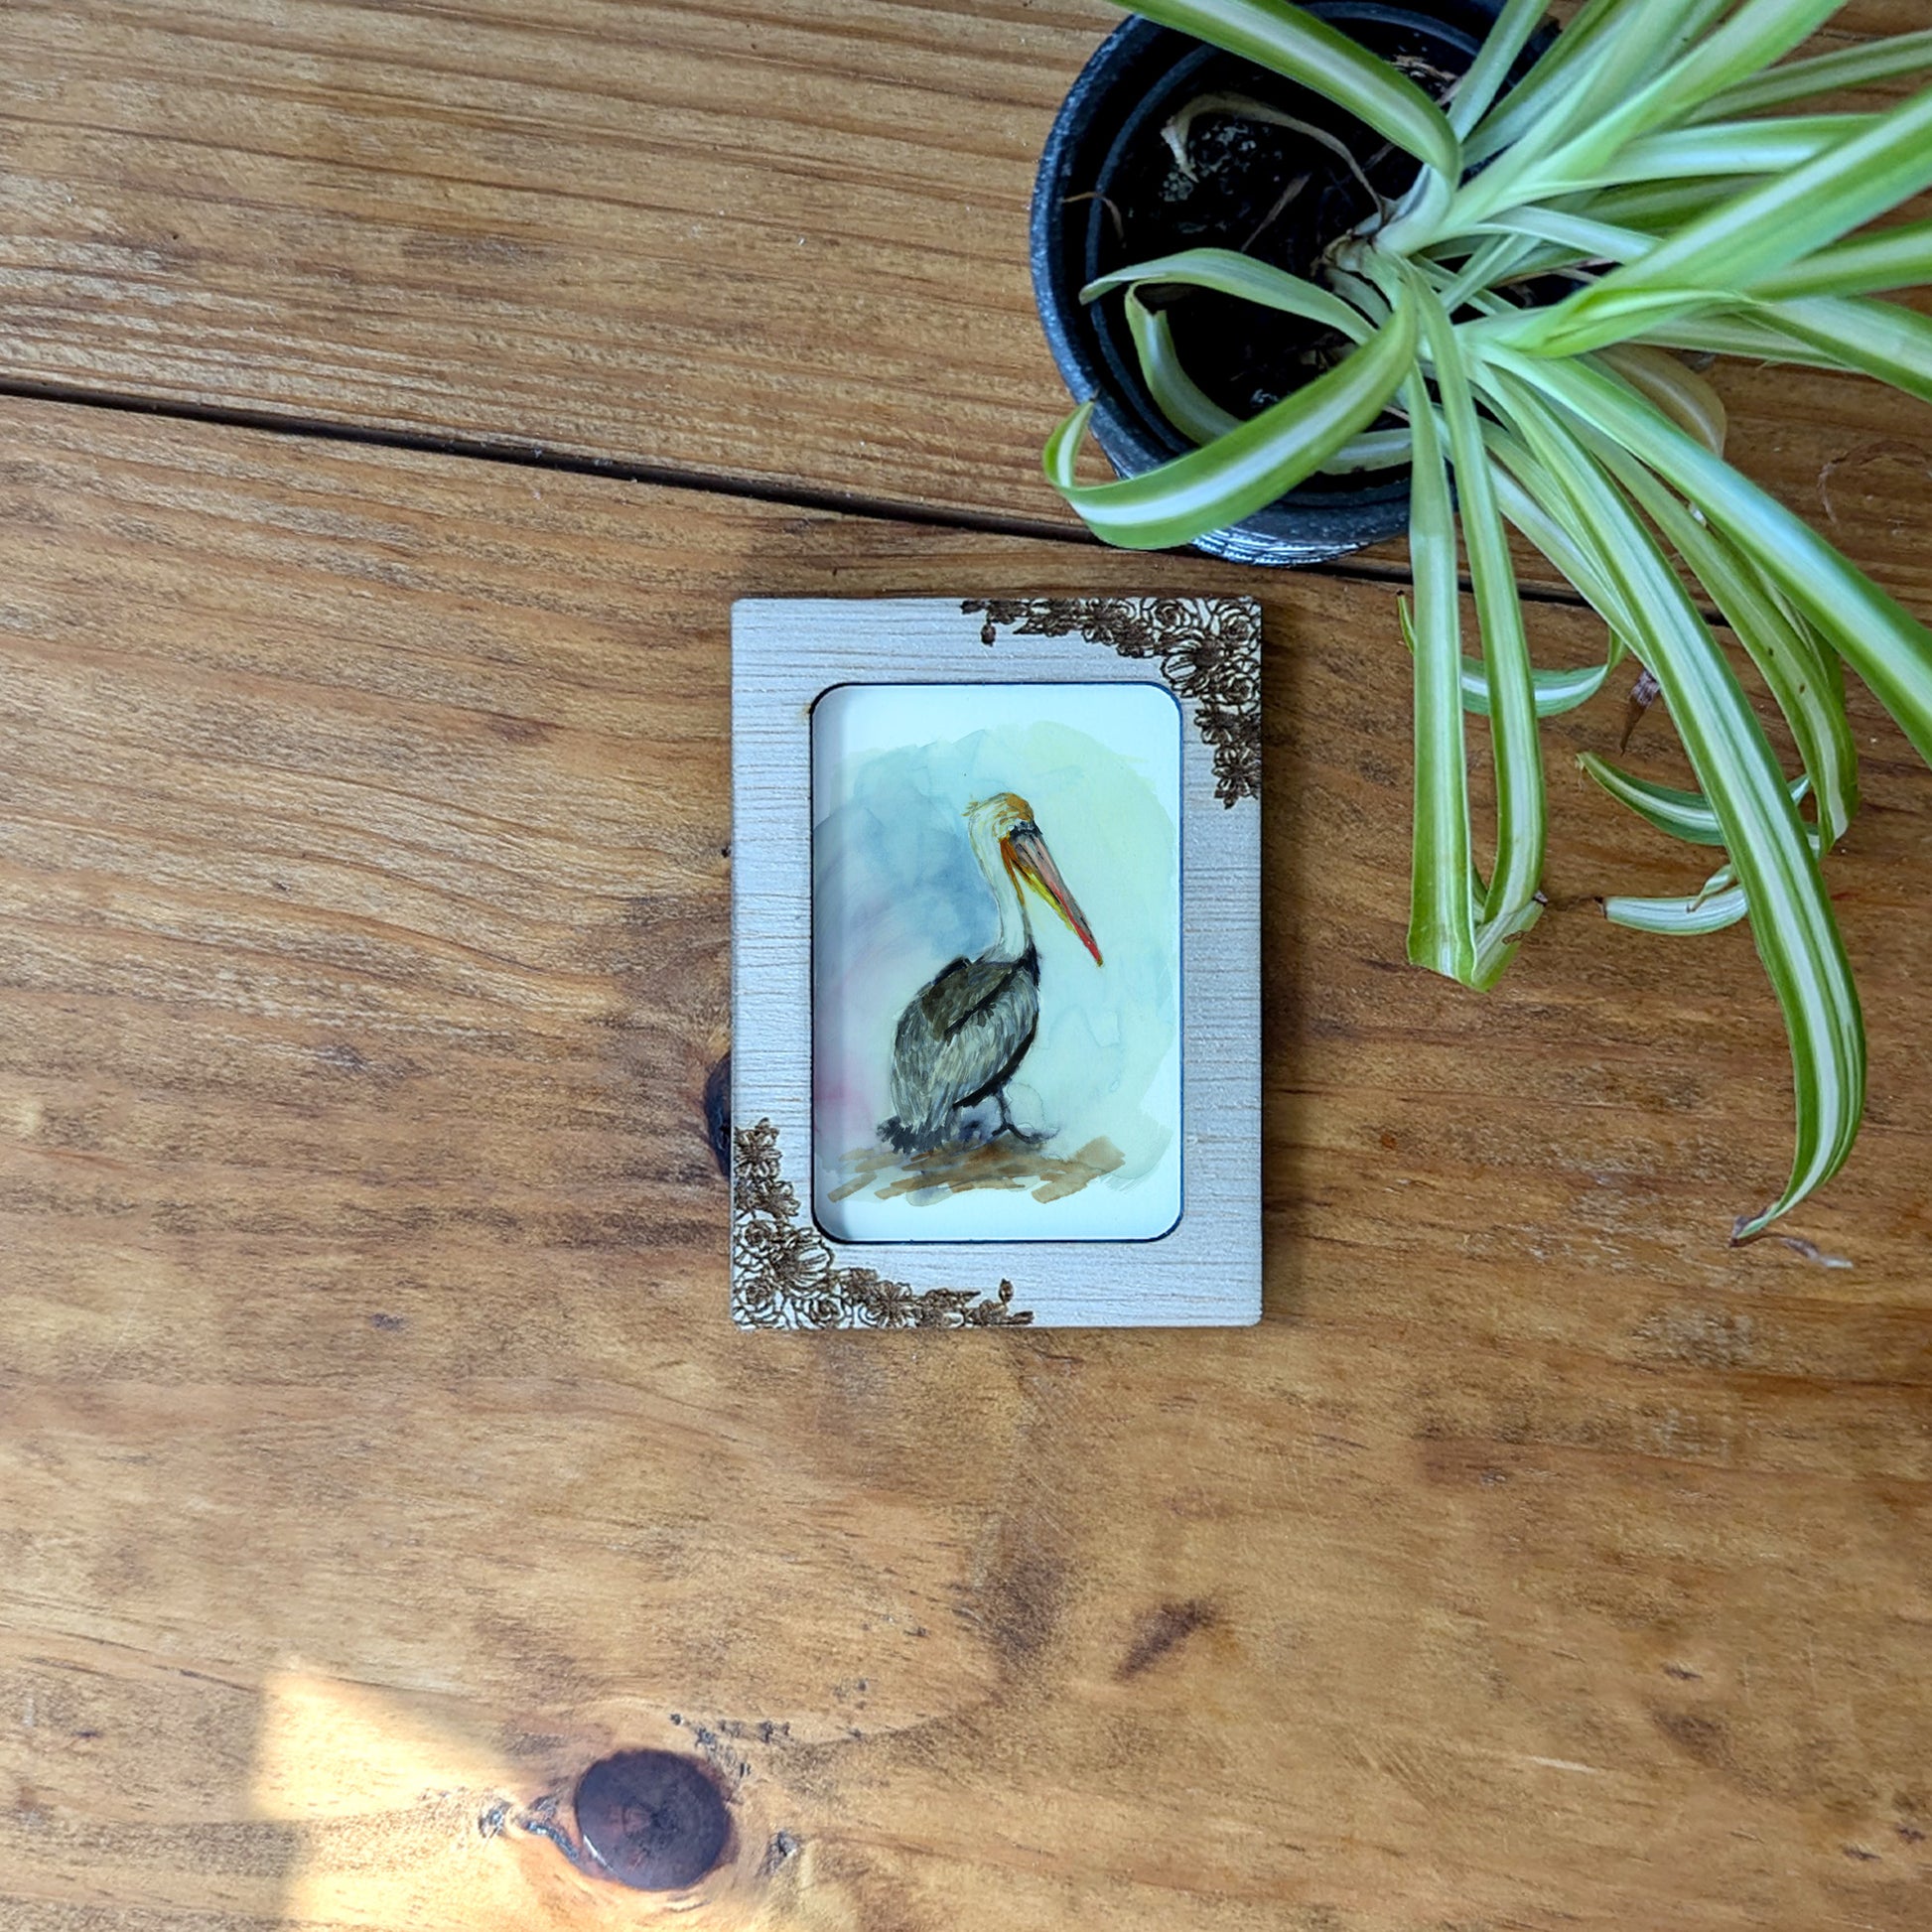
[[(753, 599), (732, 611), (732, 1318), (1242, 1325), (1262, 1312), (1260, 607)], [(1157, 682), (1182, 711), (1182, 1213), (1159, 1240), (831, 1240), (811, 1217), (811, 705), (837, 684)]]

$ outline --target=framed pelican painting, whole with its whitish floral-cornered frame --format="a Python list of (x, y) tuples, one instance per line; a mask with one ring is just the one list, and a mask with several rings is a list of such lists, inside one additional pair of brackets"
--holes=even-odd
[(1262, 1306), (1260, 609), (732, 612), (732, 1318)]

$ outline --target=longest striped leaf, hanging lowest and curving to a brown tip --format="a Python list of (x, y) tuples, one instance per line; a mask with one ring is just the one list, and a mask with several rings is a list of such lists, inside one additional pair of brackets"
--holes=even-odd
[[(1548, 381), (1548, 365), (1507, 355), (1495, 365), (1495, 394), (1555, 479), (1578, 539), (1598, 553), (1640, 626), (1640, 655), (1663, 686), (1698, 786), (1718, 813), (1758, 956), (1783, 1009), (1797, 1097), (1791, 1177), (1768, 1209), (1739, 1221), (1733, 1238), (1748, 1240), (1828, 1180), (1851, 1151), (1864, 1107), (1859, 993), (1806, 827), (1723, 651), (1590, 450), (1538, 388), (1511, 379), (1530, 369)], [(1611, 377), (1592, 379), (1613, 384)], [(1667, 423), (1648, 404), (1638, 408)], [(1667, 427), (1706, 462), (1718, 462), (1696, 439)]]

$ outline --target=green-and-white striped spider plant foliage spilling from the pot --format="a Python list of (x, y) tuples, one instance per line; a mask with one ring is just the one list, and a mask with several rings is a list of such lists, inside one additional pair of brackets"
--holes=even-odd
[[(1874, 112), (1781, 112), (1922, 73), (1932, 33), (1787, 60), (1839, 4), (1586, 0), (1505, 91), (1544, 8), (1505, 0), (1470, 68), (1432, 99), (1285, 0), (1144, 0), (1151, 19), (1347, 108), (1414, 158), (1414, 184), (1335, 238), (1310, 278), (1198, 247), (1094, 282), (1082, 299), (1126, 301), (1148, 388), (1198, 446), (1082, 483), (1088, 404), (1045, 450), (1061, 495), (1130, 549), (1235, 524), (1316, 471), (1410, 466), (1408, 956), (1464, 985), (1497, 980), (1542, 906), (1538, 719), (1590, 697), (1623, 653), (1644, 667), (1696, 790), (1594, 755), (1584, 769), (1658, 831), (1721, 848), (1721, 866), (1683, 898), (1611, 898), (1605, 912), (1675, 935), (1748, 920), (1791, 1039), (1791, 1175), (1733, 1240), (1839, 1169), (1864, 1107), (1859, 993), (1820, 873), (1857, 808), (1841, 665), (1932, 757), (1932, 632), (1723, 460), (1723, 406), (1671, 354), (1862, 371), (1932, 400), (1932, 323), (1872, 299), (1932, 280), (1932, 222), (1864, 228), (1932, 184), (1932, 89)], [(1142, 299), (1153, 288), (1318, 321), (1337, 352), (1236, 421), (1179, 365), (1165, 315)], [(1604, 616), (1602, 667), (1532, 665), (1509, 526)], [(1463, 649), (1463, 558), (1480, 655)], [(1781, 769), (1706, 607), (1783, 713), (1799, 773)], [(1495, 765), (1488, 871), (1470, 827), (1470, 713), (1488, 721)]]

